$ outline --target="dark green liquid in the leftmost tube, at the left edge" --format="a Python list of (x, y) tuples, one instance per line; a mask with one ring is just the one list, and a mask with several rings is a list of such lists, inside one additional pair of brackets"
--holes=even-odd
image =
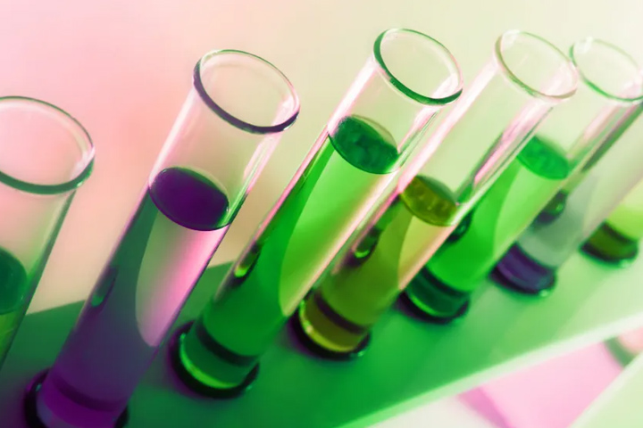
[(0, 365), (18, 330), (29, 301), (29, 278), (18, 259), (0, 248)]

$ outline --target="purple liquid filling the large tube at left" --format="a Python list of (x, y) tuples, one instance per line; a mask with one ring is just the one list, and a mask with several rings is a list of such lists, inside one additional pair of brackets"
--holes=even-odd
[(50, 428), (111, 428), (230, 224), (228, 198), (188, 169), (148, 188), (38, 392)]

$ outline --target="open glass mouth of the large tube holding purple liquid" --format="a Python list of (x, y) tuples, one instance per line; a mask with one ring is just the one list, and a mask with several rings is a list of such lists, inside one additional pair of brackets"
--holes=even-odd
[(217, 116), (252, 134), (279, 133), (299, 115), (295, 87), (271, 62), (252, 53), (205, 53), (196, 62), (194, 86)]

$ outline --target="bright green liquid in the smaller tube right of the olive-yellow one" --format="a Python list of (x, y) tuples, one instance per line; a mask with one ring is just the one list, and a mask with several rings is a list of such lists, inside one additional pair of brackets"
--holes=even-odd
[(480, 199), (466, 233), (429, 260), (432, 280), (418, 277), (408, 297), (434, 317), (454, 316), (569, 173), (565, 157), (533, 137)]

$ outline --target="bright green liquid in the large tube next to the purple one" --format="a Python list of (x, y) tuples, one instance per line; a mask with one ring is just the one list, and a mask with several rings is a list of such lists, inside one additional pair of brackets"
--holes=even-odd
[(324, 143), (184, 337), (188, 371), (241, 383), (399, 166), (393, 137), (348, 117)]

